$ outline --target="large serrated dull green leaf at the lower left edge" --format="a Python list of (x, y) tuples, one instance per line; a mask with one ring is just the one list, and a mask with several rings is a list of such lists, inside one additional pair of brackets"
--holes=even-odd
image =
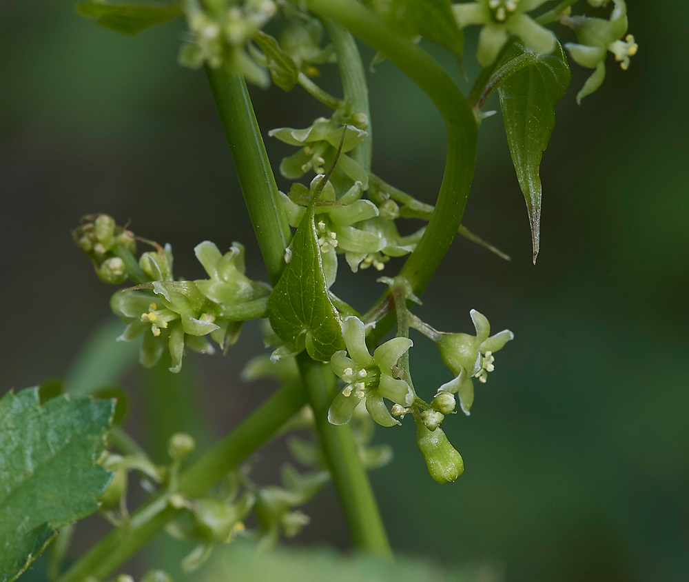
[(58, 528), (99, 508), (112, 474), (96, 461), (113, 411), (92, 398), (41, 405), (38, 388), (0, 400), (0, 582), (17, 579)]

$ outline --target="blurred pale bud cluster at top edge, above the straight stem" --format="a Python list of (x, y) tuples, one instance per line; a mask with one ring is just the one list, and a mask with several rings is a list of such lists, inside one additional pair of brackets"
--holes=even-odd
[(196, 0), (185, 3), (189, 31), (179, 63), (189, 68), (226, 67), (267, 86), (269, 75), (247, 52), (247, 43), (277, 10), (272, 0)]

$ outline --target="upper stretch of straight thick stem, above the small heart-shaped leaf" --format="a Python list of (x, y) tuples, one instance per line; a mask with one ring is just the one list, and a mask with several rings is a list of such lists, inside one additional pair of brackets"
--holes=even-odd
[(249, 90), (243, 78), (229, 74), (224, 68), (207, 67), (206, 74), (258, 246), (270, 280), (275, 284), (285, 268), (285, 248), (291, 234), (285, 212), (278, 204), (278, 185)]

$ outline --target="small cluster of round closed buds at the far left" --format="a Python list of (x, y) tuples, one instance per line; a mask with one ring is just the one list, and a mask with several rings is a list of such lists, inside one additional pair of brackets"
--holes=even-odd
[(98, 278), (104, 283), (124, 283), (127, 278), (124, 252), (134, 254), (134, 233), (116, 225), (107, 214), (92, 214), (72, 232), (74, 242), (91, 259)]

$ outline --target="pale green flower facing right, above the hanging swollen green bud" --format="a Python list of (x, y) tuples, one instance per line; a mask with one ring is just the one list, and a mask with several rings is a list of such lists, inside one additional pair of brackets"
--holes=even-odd
[(467, 416), (474, 397), (472, 378), (478, 378), (480, 382), (485, 383), (488, 373), (493, 372), (495, 368), (493, 354), (514, 339), (514, 334), (510, 330), (502, 330), (491, 336), (491, 324), (486, 316), (475, 309), (471, 310), (470, 314), (476, 335), (444, 334), (438, 340), (440, 357), (455, 374), (455, 379), (440, 386), (438, 393), (456, 393), (460, 397), (462, 411)]

